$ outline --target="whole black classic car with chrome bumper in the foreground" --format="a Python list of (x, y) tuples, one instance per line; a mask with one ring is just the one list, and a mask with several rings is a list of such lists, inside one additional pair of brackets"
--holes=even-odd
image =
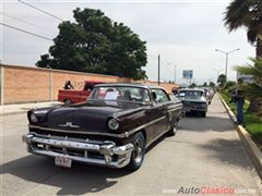
[(170, 100), (158, 86), (96, 85), (86, 102), (29, 110), (27, 151), (111, 168), (141, 167), (145, 149), (164, 134), (175, 135), (182, 113), (180, 100)]

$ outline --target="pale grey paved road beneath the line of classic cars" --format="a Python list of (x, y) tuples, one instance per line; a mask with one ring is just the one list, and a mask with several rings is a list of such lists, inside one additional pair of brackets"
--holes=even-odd
[(21, 140), (27, 132), (25, 114), (2, 117), (1, 195), (169, 195), (201, 187), (261, 195), (261, 181), (217, 97), (207, 118), (183, 118), (179, 126), (176, 136), (159, 139), (142, 168), (130, 173), (82, 163), (56, 167), (52, 159), (26, 152)]

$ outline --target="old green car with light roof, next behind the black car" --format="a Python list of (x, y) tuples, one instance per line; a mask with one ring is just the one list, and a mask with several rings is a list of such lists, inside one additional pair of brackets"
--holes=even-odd
[(183, 103), (183, 113), (186, 115), (200, 113), (202, 117), (206, 117), (207, 100), (203, 89), (180, 89), (178, 91), (178, 98)]

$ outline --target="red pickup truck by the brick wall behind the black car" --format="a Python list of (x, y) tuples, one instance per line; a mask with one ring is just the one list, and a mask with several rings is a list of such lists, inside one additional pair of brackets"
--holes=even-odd
[(103, 83), (104, 82), (86, 81), (82, 90), (60, 89), (58, 91), (58, 101), (64, 102), (66, 105), (86, 101), (94, 86)]

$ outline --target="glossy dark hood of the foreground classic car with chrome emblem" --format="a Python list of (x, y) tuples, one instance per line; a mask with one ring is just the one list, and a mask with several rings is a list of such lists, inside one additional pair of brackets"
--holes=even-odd
[[(134, 106), (117, 107), (114, 103), (85, 102), (71, 106), (51, 108), (46, 112), (40, 126), (53, 130), (107, 132), (107, 121), (111, 117), (133, 110)], [(138, 108), (138, 107), (136, 107)], [(43, 110), (35, 110), (43, 113)]]

